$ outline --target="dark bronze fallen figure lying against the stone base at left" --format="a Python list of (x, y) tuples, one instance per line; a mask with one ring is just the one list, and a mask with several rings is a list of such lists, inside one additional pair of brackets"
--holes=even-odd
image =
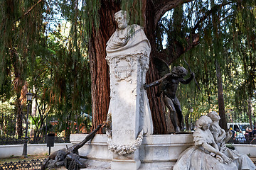
[(102, 125), (98, 125), (95, 130), (90, 132), (90, 134), (87, 135), (84, 140), (82, 140), (82, 142), (73, 145), (72, 147), (63, 148), (53, 152), (53, 154), (50, 154), (48, 159), (46, 159), (46, 161), (41, 166), (41, 170), (55, 169), (60, 166), (65, 166), (65, 168), (68, 170), (85, 168), (86, 165), (80, 161), (78, 149), (80, 149), (80, 147), (85, 145), (86, 142), (95, 137), (96, 132), (100, 130), (101, 127)]

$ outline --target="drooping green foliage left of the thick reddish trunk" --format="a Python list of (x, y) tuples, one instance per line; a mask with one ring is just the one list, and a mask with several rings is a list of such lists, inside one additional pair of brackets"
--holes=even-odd
[[(16, 94), (18, 137), (23, 135), (22, 100), (26, 101), (28, 90), (36, 98), (38, 130), (47, 115), (69, 118), (70, 124), (81, 113), (90, 115), (90, 71), (80, 36), (78, 1), (71, 1), (73, 8), (69, 3), (1, 1), (0, 95), (6, 101)], [(56, 18), (57, 7), (63, 12), (61, 21)], [(65, 25), (64, 20), (70, 25), (65, 37), (58, 27)]]

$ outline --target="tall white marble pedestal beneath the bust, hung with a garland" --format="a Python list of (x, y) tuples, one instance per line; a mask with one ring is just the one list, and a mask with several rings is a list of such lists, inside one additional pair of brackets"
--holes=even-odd
[(110, 65), (110, 108), (112, 135), (109, 147), (113, 152), (112, 170), (137, 170), (139, 134), (151, 135), (153, 123), (145, 84), (149, 68), (146, 51), (107, 56)]

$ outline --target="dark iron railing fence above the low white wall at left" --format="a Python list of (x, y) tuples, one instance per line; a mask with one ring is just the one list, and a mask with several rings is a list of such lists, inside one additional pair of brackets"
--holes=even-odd
[[(77, 116), (79, 117), (79, 116)], [(80, 118), (81, 117), (81, 118)], [(43, 123), (38, 123), (38, 119), (29, 118), (28, 121), (28, 144), (42, 144), (46, 143), (47, 134), (55, 134), (55, 143), (70, 142), (70, 133), (86, 133), (89, 130), (89, 124), (85, 122), (80, 123), (83, 119), (82, 116), (71, 120), (70, 118), (46, 118)], [(22, 132), (23, 134), (18, 137), (16, 131), (16, 114), (4, 113), (0, 111), (0, 145), (19, 145), (24, 143), (25, 131), (26, 131), (26, 118), (23, 118)], [(37, 124), (35, 124), (37, 122)], [(37, 126), (36, 126), (37, 125)], [(40, 128), (40, 127), (41, 128)], [(58, 134), (58, 136), (56, 135)]]

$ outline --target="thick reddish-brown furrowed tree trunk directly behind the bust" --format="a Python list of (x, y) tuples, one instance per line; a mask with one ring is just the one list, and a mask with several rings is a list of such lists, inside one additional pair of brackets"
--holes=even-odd
[[(174, 0), (171, 3), (162, 1), (142, 0), (142, 18), (144, 21), (144, 30), (146, 37), (151, 44), (151, 55), (149, 62), (149, 71), (146, 74), (146, 83), (151, 83), (159, 79), (156, 68), (152, 62), (156, 56), (155, 35), (156, 21), (159, 21), (166, 11), (171, 10), (178, 4), (183, 4), (191, 0)], [(107, 111), (110, 103), (110, 74), (109, 67), (105, 60), (106, 43), (114, 30), (117, 28), (114, 20), (114, 13), (120, 10), (120, 1), (101, 0), (100, 6), (100, 26), (92, 28), (90, 37), (90, 70), (92, 81), (92, 129), (103, 123), (107, 119)], [(154, 134), (166, 134), (166, 118), (163, 98), (156, 97), (156, 87), (147, 89), (149, 105), (154, 124)], [(100, 130), (102, 132), (102, 130)]]

